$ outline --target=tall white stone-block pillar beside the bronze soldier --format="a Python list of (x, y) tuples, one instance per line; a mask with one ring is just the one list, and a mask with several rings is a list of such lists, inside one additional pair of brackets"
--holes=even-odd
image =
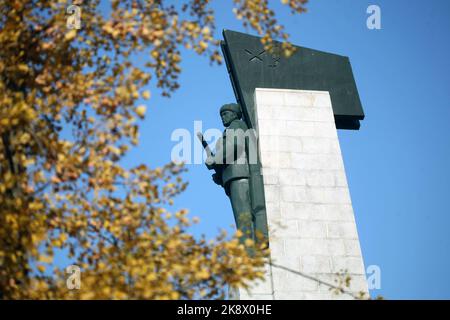
[(343, 271), (368, 294), (329, 93), (258, 88), (255, 99), (273, 266), (240, 299), (352, 299), (308, 278), (336, 285)]

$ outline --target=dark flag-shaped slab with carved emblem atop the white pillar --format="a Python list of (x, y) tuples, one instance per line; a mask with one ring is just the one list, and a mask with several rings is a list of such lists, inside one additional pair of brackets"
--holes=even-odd
[(276, 42), (271, 53), (260, 38), (224, 30), (222, 51), (233, 90), (250, 127), (255, 124), (255, 88), (329, 91), (338, 129), (358, 130), (364, 112), (348, 57), (296, 47), (289, 58)]

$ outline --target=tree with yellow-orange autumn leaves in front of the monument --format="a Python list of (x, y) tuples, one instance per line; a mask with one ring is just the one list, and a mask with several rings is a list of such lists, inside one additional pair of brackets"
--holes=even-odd
[[(0, 298), (220, 298), (262, 277), (265, 250), (249, 256), (239, 234), (196, 239), (187, 211), (168, 211), (183, 166), (120, 164), (145, 87), (178, 88), (181, 47), (221, 62), (210, 2), (113, 0), (106, 17), (99, 0), (0, 0)], [(306, 0), (281, 2), (300, 13)], [(233, 3), (267, 48), (287, 39), (268, 0)], [(67, 289), (56, 252), (81, 267), (80, 290)]]

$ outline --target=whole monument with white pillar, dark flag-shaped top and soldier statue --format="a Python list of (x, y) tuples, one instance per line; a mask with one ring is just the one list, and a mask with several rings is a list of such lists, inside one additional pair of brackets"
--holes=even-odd
[[(223, 36), (237, 104), (223, 106), (221, 117), (225, 127), (255, 132), (257, 156), (246, 161), (248, 153), (241, 152), (238, 170), (227, 169), (229, 162), (217, 165), (225, 159), (211, 154), (207, 166), (230, 196), (237, 227), (248, 237), (260, 230), (271, 251), (265, 281), (241, 290), (239, 298), (367, 294), (337, 136), (337, 129), (358, 130), (364, 119), (349, 59), (302, 47), (286, 58), (280, 43), (269, 52), (258, 37), (228, 30)], [(245, 150), (226, 132), (216, 149)], [(330, 291), (337, 273), (351, 277), (346, 295)]]

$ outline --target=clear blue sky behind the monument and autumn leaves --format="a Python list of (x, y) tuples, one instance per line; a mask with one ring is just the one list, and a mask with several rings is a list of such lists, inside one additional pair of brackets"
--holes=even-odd
[[(311, 0), (295, 16), (271, 2), (294, 44), (350, 57), (366, 119), (339, 138), (364, 262), (381, 268), (372, 296), (450, 299), (450, 1)], [(366, 27), (371, 4), (381, 8), (382, 30)], [(217, 38), (224, 28), (246, 31), (231, 1), (213, 6)], [(218, 109), (235, 101), (225, 66), (183, 51), (182, 68), (172, 98), (152, 90), (127, 165), (169, 162), (173, 130), (194, 134), (196, 120), (222, 128)], [(200, 217), (195, 234), (231, 230), (223, 190), (203, 165), (188, 169), (189, 187), (174, 208)]]

